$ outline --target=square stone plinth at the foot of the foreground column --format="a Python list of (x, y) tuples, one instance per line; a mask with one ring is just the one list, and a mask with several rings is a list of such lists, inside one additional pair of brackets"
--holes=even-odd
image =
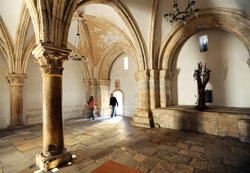
[(36, 155), (36, 164), (40, 170), (48, 171), (72, 160), (68, 151), (56, 156), (44, 156), (43, 153)]

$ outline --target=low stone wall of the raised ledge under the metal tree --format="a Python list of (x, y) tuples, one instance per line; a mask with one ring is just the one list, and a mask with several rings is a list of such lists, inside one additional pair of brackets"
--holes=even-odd
[(249, 114), (166, 108), (154, 110), (153, 118), (156, 127), (250, 139), (245, 127), (238, 127), (242, 119), (250, 119)]

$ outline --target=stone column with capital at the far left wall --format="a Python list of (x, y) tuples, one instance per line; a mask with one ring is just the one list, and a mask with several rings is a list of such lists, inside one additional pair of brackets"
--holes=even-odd
[(10, 125), (9, 128), (16, 128), (23, 125), (23, 86), (26, 75), (9, 74), (10, 83)]

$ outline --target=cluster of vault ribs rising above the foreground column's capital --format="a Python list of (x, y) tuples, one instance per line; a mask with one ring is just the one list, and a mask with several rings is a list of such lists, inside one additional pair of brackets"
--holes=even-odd
[(25, 0), (33, 22), (36, 44), (65, 48), (70, 23), (79, 0)]

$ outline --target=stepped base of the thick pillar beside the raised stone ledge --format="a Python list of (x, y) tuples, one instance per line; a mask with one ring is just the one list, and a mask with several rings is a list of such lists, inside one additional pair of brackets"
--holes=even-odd
[(152, 111), (137, 109), (136, 114), (133, 116), (131, 124), (137, 127), (153, 128), (154, 120)]

